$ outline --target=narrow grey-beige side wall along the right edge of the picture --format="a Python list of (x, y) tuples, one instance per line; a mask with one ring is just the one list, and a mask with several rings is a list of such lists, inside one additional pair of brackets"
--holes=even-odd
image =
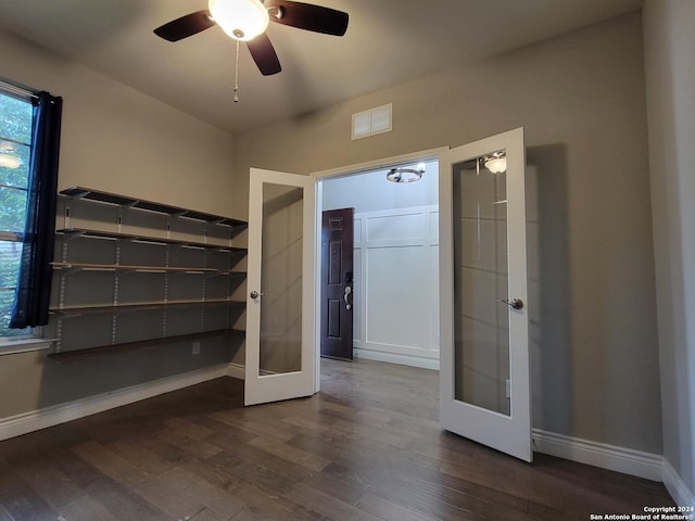
[(691, 0), (645, 1), (664, 456), (690, 490), (691, 498), (695, 496), (693, 20), (695, 2)]

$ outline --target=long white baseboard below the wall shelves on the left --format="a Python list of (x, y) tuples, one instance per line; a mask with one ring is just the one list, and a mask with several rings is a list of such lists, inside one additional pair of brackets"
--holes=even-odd
[(227, 376), (227, 365), (176, 374), (0, 419), (0, 441)]

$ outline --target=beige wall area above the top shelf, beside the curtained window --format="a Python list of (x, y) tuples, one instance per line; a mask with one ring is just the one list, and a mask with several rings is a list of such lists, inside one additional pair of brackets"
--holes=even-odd
[(3, 77), (63, 97), (59, 189), (237, 216), (227, 132), (7, 33), (0, 51)]

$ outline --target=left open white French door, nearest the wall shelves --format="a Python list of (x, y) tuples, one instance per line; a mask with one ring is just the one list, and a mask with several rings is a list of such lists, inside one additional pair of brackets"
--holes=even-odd
[(251, 168), (244, 404), (312, 395), (316, 185)]

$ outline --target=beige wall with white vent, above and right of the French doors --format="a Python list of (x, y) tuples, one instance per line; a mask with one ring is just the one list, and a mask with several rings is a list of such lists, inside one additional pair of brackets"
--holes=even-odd
[[(351, 141), (351, 114), (389, 102), (393, 131)], [(533, 424), (660, 454), (639, 14), (236, 136), (235, 206), (250, 166), (307, 174), (518, 126), (539, 178)]]

